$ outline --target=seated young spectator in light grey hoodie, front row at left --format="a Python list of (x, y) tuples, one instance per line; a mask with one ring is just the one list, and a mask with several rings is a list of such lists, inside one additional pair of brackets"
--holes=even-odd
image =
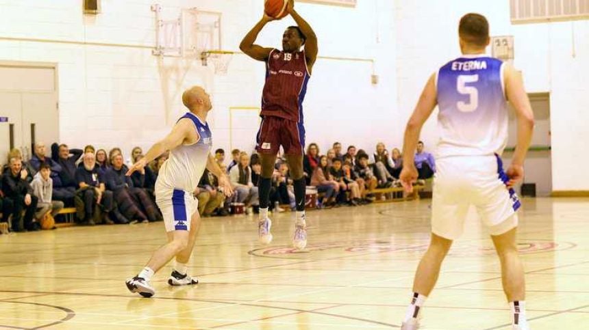
[(64, 208), (64, 202), (52, 200), (53, 197), (53, 180), (51, 180), (51, 166), (42, 163), (39, 171), (35, 174), (31, 187), (37, 197), (36, 219), (42, 219), (51, 212), (51, 217), (58, 215)]

